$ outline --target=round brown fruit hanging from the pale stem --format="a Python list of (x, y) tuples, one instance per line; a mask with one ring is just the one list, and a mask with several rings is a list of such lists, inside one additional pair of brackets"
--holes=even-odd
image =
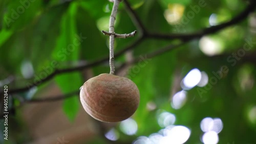
[(139, 105), (139, 89), (130, 79), (101, 74), (80, 89), (84, 110), (101, 122), (120, 122), (134, 114)]

